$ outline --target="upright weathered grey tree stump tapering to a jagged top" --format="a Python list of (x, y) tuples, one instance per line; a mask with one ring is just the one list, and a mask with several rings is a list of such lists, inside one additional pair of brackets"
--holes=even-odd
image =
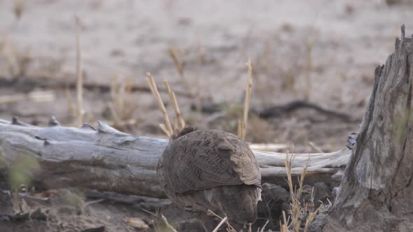
[(353, 156), (324, 231), (413, 231), (413, 37), (375, 70)]

